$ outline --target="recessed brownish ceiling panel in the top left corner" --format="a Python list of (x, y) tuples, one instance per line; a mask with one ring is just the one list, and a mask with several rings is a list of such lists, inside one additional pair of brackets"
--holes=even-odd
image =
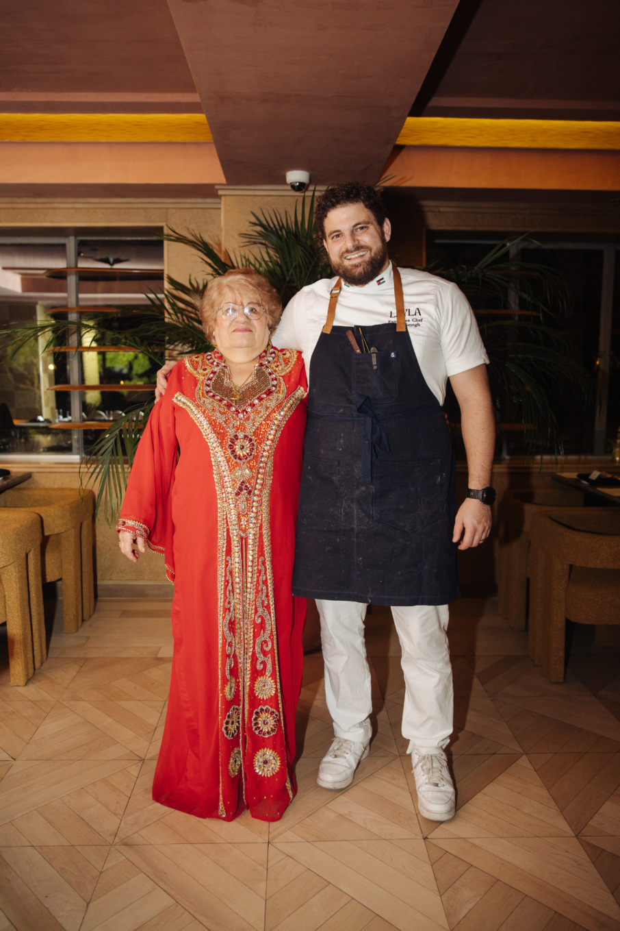
[(200, 110), (165, 0), (0, 0), (0, 110)]

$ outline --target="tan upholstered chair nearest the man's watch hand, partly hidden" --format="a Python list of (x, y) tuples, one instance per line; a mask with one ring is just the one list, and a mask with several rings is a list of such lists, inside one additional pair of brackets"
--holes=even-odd
[(534, 514), (583, 510), (584, 496), (571, 488), (519, 488), (508, 492), (499, 508), (497, 608), (510, 627), (524, 630), (527, 621), (527, 580), (530, 524)]

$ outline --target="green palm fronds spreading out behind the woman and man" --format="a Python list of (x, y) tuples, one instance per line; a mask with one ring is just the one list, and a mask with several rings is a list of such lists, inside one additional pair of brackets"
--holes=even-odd
[[(20, 347), (43, 338), (49, 349), (59, 344), (106, 344), (122, 342), (144, 353), (156, 365), (165, 350), (178, 355), (211, 348), (202, 330), (198, 307), (211, 277), (231, 268), (250, 266), (266, 277), (283, 304), (297, 290), (332, 272), (320, 244), (314, 219), (314, 194), (301, 201), (293, 216), (277, 210), (252, 214), (244, 234), (247, 251), (222, 256), (198, 233), (183, 235), (170, 229), (164, 238), (195, 250), (204, 263), (203, 280), (181, 282), (166, 277), (162, 295), (147, 296), (148, 306), (120, 309), (116, 317), (81, 317), (77, 321), (49, 319), (9, 336), (9, 358)], [(582, 406), (594, 397), (592, 382), (583, 366), (571, 356), (561, 334), (547, 325), (568, 304), (567, 287), (552, 269), (533, 263), (510, 262), (507, 256), (519, 239), (490, 250), (475, 266), (429, 268), (433, 274), (454, 281), (472, 305), (487, 347), (489, 376), (498, 420), (520, 419), (526, 425), (530, 450), (561, 454), (561, 433), (552, 410), (551, 385), (565, 383)], [(0, 333), (2, 335), (2, 333)], [(82, 466), (83, 482), (98, 483), (97, 509), (110, 523), (125, 493), (139, 437), (154, 400), (128, 407), (93, 445)]]

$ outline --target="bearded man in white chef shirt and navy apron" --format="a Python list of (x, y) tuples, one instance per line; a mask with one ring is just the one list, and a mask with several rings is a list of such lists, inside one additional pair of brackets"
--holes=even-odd
[[(446, 631), (448, 602), (459, 597), (456, 549), (486, 540), (495, 500), (488, 358), (454, 284), (389, 262), (391, 227), (373, 187), (329, 187), (315, 216), (335, 277), (296, 294), (272, 342), (301, 350), (309, 377), (293, 591), (316, 599), (321, 616), (335, 738), (317, 782), (346, 788), (368, 755), (363, 623), (369, 603), (389, 605), (402, 647), (402, 735), (418, 809), (444, 821), (455, 815), (445, 747), (453, 729)], [(448, 378), (468, 457), (468, 497), (458, 510), (442, 412)]]

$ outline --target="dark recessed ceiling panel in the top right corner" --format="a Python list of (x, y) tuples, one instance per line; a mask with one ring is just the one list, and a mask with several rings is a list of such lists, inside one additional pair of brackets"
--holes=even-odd
[(618, 119), (618, 34), (618, 0), (461, 0), (411, 115)]

